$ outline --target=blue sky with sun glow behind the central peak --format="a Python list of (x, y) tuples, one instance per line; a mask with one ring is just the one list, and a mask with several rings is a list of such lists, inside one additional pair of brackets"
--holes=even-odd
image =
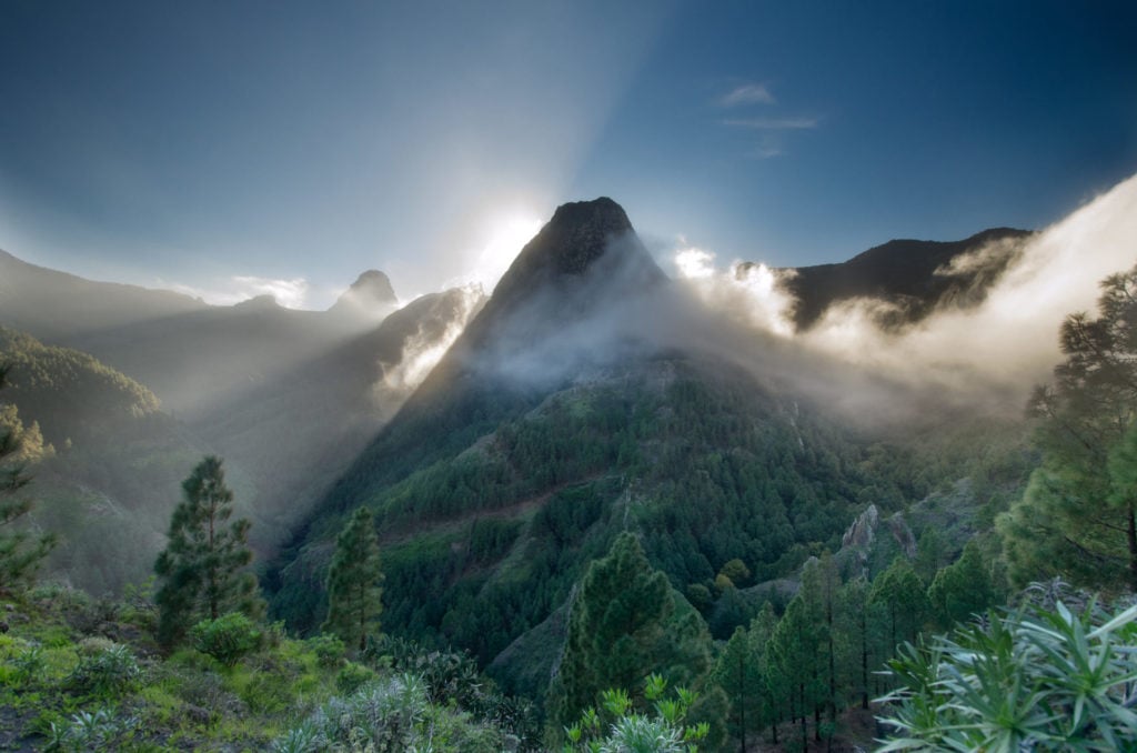
[[(330, 305), (567, 200), (661, 259), (1040, 227), (1137, 172), (1132, 2), (0, 0), (0, 248)], [(684, 240), (680, 240), (680, 238)]]

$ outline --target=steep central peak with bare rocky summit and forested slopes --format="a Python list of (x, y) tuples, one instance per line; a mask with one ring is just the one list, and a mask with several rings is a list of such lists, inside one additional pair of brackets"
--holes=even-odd
[[(621, 531), (727, 636), (749, 619), (721, 617), (728, 563), (746, 563), (739, 587), (792, 578), (870, 504), (896, 512), (957, 478), (955, 432), (927, 454), (913, 436), (886, 445), (772, 378), (653, 340), (645, 312), (674, 295), (617, 205), (559, 209), (299, 530), (267, 581), (274, 614), (316, 629), (332, 539), (365, 505), (388, 629), (497, 657), (507, 688), (541, 697), (532, 677), (554, 669), (574, 584)], [(1023, 463), (997, 483), (1021, 483)]]

